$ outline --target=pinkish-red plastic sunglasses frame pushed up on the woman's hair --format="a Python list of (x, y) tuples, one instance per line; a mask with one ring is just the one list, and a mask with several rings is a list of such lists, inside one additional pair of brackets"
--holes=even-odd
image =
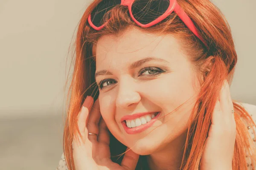
[[(160, 17), (158, 17), (156, 20), (154, 20), (154, 21), (152, 21), (151, 23), (148, 23), (148, 24), (142, 24), (142, 23), (138, 22), (134, 18), (133, 14), (132, 14), (132, 11), (131, 11), (131, 6), (134, 3), (134, 1), (135, 0), (121, 0), (121, 4), (120, 5), (128, 6), (128, 9), (129, 9), (129, 12), (130, 12), (130, 16), (131, 16), (131, 18), (134, 20), (134, 22), (137, 25), (139, 25), (139, 26), (141, 26), (143, 28), (148, 28), (148, 27), (154, 26), (155, 24), (161, 22), (166, 17), (168, 17), (169, 14), (172, 13), (172, 11), (175, 11), (175, 13), (180, 17), (180, 19), (183, 21), (183, 23), (190, 29), (190, 31), (192, 31), (193, 34), (195, 34), (195, 36), (198, 37), (204, 43), (205, 46), (207, 46), (207, 43), (204, 41), (204, 39), (198, 33), (194, 23), (189, 18), (189, 16), (185, 13), (185, 11), (179, 6), (179, 4), (177, 3), (177, 0), (169, 0), (170, 1), (170, 5), (167, 8), (167, 10), (165, 11), (165, 13), (163, 15), (161, 15)], [(95, 26), (92, 23), (91, 14), (88, 17), (88, 23), (90, 24), (91, 27), (93, 27), (93, 29), (95, 29), (97, 31), (101, 30), (105, 26), (105, 23), (102, 26), (99, 26), (99, 27)]]

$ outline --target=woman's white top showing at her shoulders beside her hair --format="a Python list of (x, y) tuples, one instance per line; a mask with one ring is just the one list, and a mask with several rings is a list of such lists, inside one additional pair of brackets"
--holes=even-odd
[[(240, 103), (240, 104), (245, 108), (245, 110), (248, 111), (250, 116), (253, 118), (254, 122), (256, 122), (256, 105), (251, 105), (248, 103)], [(246, 123), (246, 122), (244, 122), (244, 123)], [(253, 127), (253, 128), (256, 130), (256, 127)], [(256, 136), (253, 135), (253, 128), (250, 126), (247, 126), (247, 129), (249, 130), (249, 132), (251, 134), (253, 142), (254, 142), (254, 144), (256, 144)], [(246, 156), (246, 159), (247, 159), (247, 167), (248, 167), (247, 170), (253, 170), (249, 156)], [(58, 164), (58, 167), (56, 168), (56, 170), (68, 170), (63, 153), (61, 155), (61, 160), (59, 161), (59, 164)]]

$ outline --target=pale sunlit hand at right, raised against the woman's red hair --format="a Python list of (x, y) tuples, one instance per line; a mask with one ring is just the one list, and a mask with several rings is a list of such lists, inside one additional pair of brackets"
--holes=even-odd
[(199, 170), (232, 170), (236, 122), (230, 88), (225, 80), (212, 113), (212, 124)]

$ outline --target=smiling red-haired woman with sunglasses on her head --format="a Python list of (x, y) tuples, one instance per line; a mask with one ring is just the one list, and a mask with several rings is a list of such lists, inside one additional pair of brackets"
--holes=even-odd
[(94, 0), (77, 33), (58, 169), (255, 168), (252, 113), (230, 97), (236, 62), (209, 0)]

